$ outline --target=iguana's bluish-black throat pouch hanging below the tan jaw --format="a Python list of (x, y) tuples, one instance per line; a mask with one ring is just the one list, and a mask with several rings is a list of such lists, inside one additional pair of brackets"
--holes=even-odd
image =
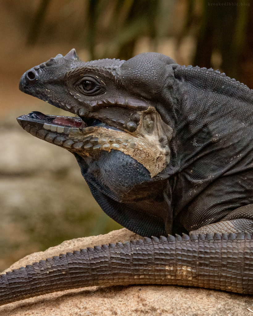
[[(168, 186), (166, 176), (164, 180), (157, 176), (151, 178), (141, 163), (119, 150), (101, 151), (96, 159), (77, 154), (75, 157), (91, 193), (108, 216), (142, 235), (147, 235), (140, 230), (145, 226), (143, 219), (149, 223), (146, 226), (150, 226), (153, 220), (159, 222), (156, 235), (160, 231), (164, 234), (166, 230), (172, 231), (171, 218), (170, 221), (167, 219), (168, 227), (165, 229), (164, 226), (168, 217), (168, 203), (164, 200)], [(105, 202), (107, 197), (108, 203)], [(133, 213), (138, 224), (129, 227)]]

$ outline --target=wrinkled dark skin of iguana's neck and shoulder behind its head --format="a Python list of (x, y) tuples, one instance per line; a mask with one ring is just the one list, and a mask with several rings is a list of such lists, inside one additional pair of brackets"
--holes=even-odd
[(200, 76), (197, 68), (194, 76), (194, 70), (194, 80), (183, 67), (175, 71), (175, 137), (164, 170), (174, 184), (173, 218), (188, 232), (251, 204), (253, 196), (252, 91), (219, 73), (203, 69)]

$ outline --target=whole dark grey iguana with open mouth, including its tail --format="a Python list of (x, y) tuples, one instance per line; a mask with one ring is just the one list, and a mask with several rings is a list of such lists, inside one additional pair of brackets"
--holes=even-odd
[(169, 235), (88, 248), (9, 272), (0, 277), (1, 304), (113, 284), (253, 294), (248, 87), (157, 53), (84, 63), (72, 50), (28, 70), (20, 89), (79, 116), (31, 112), (18, 121), (75, 155), (110, 217), (141, 236)]

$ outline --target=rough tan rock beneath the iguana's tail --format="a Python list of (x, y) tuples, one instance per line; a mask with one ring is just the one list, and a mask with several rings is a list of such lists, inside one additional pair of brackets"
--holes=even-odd
[[(136, 239), (126, 228), (106, 235), (68, 240), (26, 256), (8, 270), (63, 252)], [(0, 307), (0, 316), (253, 316), (253, 296), (176, 286), (89, 287), (42, 295)]]

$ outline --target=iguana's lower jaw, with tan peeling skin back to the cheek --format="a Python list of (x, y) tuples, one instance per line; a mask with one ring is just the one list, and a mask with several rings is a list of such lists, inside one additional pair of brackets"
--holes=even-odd
[[(100, 124), (81, 127), (81, 119), (46, 116), (46, 120), (36, 120), (31, 119), (30, 114), (17, 118), (18, 123), (25, 131), (48, 143), (77, 153), (83, 158), (93, 157), (96, 159), (101, 150), (108, 152), (112, 149), (120, 150), (141, 163), (150, 172), (151, 178), (161, 172), (169, 163), (169, 149), (161, 148), (159, 142), (154, 143), (153, 139), (139, 138), (121, 130), (106, 128)], [(79, 127), (74, 124), (71, 126), (52, 124), (56, 123), (57, 118), (59, 121), (65, 120), (66, 122), (68, 119), (72, 120)]]

